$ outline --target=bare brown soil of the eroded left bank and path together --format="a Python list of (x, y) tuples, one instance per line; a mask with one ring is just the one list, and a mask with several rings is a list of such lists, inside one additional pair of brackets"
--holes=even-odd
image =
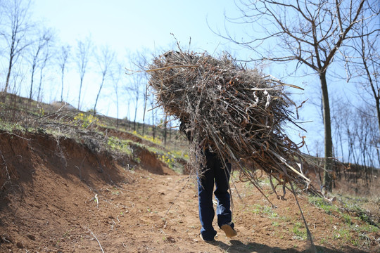
[[(239, 235), (230, 240), (217, 228), (216, 242), (209, 244), (199, 237), (194, 179), (176, 174), (146, 150), (137, 150), (139, 166), (128, 160), (120, 166), (110, 154), (94, 154), (70, 138), (1, 132), (0, 151), (0, 252), (308, 249), (308, 240), (293, 233), (296, 226), (305, 228), (291, 193), (277, 200), (264, 187), (277, 206), (271, 209), (251, 184), (234, 181)], [(298, 200), (318, 252), (379, 252), (373, 243), (362, 249), (342, 237), (332, 240), (344, 226), (341, 219), (310, 205), (308, 197)]]

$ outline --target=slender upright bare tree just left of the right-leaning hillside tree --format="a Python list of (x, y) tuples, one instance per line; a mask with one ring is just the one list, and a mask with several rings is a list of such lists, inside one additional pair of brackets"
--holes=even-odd
[(80, 74), (80, 91), (78, 97), (78, 107), (80, 110), (80, 96), (82, 94), (82, 86), (84, 75), (87, 72), (87, 65), (89, 63), (90, 52), (92, 48), (91, 38), (87, 37), (86, 39), (77, 41), (77, 52), (76, 52), (76, 62), (78, 67), (78, 73)]

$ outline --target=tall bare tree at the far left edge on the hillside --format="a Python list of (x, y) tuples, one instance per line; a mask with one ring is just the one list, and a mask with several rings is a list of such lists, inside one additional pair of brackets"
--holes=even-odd
[(9, 80), (12, 68), (24, 49), (31, 44), (27, 39), (28, 32), (32, 29), (30, 21), (30, 1), (9, 0), (2, 2), (2, 25), (0, 36), (6, 41), (8, 50), (8, 70), (4, 92), (8, 92)]

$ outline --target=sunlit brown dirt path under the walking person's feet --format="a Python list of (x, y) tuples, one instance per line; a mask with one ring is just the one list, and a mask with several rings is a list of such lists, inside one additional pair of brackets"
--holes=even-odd
[[(127, 182), (119, 187), (104, 185), (91, 189), (75, 177), (63, 180), (46, 172), (36, 172), (33, 190), (26, 190), (23, 200), (11, 202), (8, 208), (16, 210), (14, 216), (8, 216), (6, 221), (1, 216), (3, 225), (8, 226), (1, 234), (8, 236), (12, 243), (0, 245), (0, 252), (101, 252), (101, 249), (104, 252), (303, 252), (307, 248), (306, 240), (296, 238), (291, 231), (297, 222), (302, 226), (293, 199), (272, 198), (279, 208), (271, 209), (247, 183), (236, 183), (242, 200), (233, 190), (234, 221), (239, 235), (229, 240), (217, 229), (216, 242), (208, 244), (199, 238), (196, 189), (193, 180), (186, 176), (128, 171)], [(96, 193), (99, 205), (94, 199)], [(301, 201), (315, 239), (331, 233), (331, 229), (334, 231), (334, 223), (339, 221)], [(319, 249), (320, 252), (351, 250), (325, 246)]]

